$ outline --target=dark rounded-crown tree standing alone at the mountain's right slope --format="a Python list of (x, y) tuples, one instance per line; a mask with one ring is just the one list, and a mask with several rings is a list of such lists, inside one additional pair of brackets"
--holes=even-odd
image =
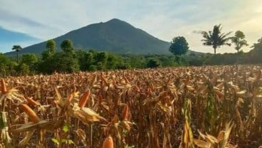
[(187, 53), (189, 50), (189, 45), (187, 43), (186, 38), (183, 36), (178, 36), (173, 38), (171, 41), (171, 46), (169, 47), (169, 51), (176, 56), (177, 63), (179, 63), (179, 57)]

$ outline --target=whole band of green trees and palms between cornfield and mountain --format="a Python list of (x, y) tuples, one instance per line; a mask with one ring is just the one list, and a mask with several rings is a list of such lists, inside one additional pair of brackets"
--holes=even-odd
[[(243, 53), (241, 48), (248, 46), (242, 31), (236, 31), (233, 37), (229, 33), (221, 33), (221, 25), (214, 26), (213, 31), (202, 31), (203, 45), (211, 46), (211, 53), (188, 53), (189, 44), (186, 38), (178, 36), (172, 39), (169, 51), (173, 55), (117, 55), (107, 52), (84, 51), (75, 49), (73, 42), (65, 40), (61, 43), (61, 52), (56, 50), (56, 42), (46, 42), (46, 50), (41, 55), (23, 54), (19, 58), (21, 46), (13, 46), (16, 59), (0, 53), (0, 77), (9, 75), (73, 73), (78, 71), (115, 70), (128, 68), (157, 68), (182, 65), (230, 65), (243, 63), (262, 63), (262, 38), (251, 46), (252, 50)], [(230, 42), (231, 41), (231, 42)], [(236, 53), (217, 54), (221, 46), (234, 44)], [(187, 53), (187, 54), (186, 54)]]

